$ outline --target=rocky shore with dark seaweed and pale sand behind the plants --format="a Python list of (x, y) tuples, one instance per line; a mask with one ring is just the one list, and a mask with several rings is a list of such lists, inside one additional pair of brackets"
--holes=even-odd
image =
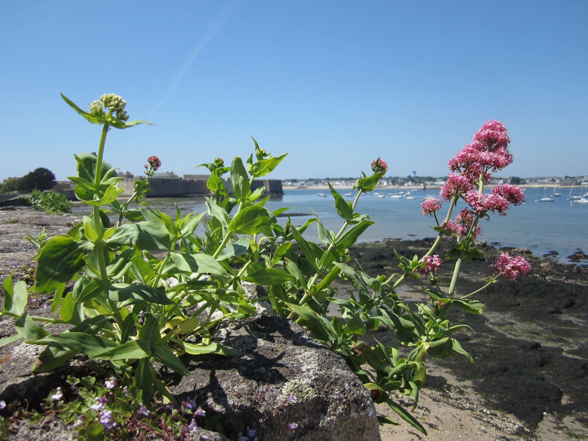
[[(15, 278), (32, 284), (34, 265), (30, 261), (36, 249), (24, 239), (25, 232), (36, 236), (45, 228), (54, 236), (66, 232), (79, 218), (22, 206), (0, 207), (0, 282), (14, 272)], [(394, 250), (412, 258), (431, 243), (429, 239), (363, 243), (350, 250), (350, 263), (357, 259), (371, 275), (391, 275), (397, 271)], [(449, 246), (442, 242), (439, 255), (445, 255)], [(485, 259), (462, 265), (458, 295), (479, 288), (503, 250), (524, 255), (533, 270), (522, 280), (505, 279), (480, 293), (477, 299), (487, 305), (483, 315), (454, 312), (455, 319), (473, 328), (456, 338), (475, 358), (476, 366), (464, 358), (427, 359), (429, 375), (416, 413), (426, 422), (429, 436), (406, 425), (380, 426), (382, 439), (587, 437), (588, 270), (533, 256), (526, 249), (482, 246), (482, 250)], [(452, 270), (451, 262), (442, 265), (447, 283)], [(341, 283), (338, 288), (345, 292), (346, 286)], [(409, 303), (426, 300), (417, 288), (407, 283), (399, 295)], [(46, 296), (33, 297), (28, 307), (42, 308), (46, 300)], [(3, 336), (9, 332), (5, 328), (0, 325)], [(365, 339), (373, 343), (369, 335)], [(377, 339), (396, 343), (392, 333), (377, 332)], [(0, 370), (3, 362), (0, 358)], [(405, 402), (412, 406), (410, 400)]]

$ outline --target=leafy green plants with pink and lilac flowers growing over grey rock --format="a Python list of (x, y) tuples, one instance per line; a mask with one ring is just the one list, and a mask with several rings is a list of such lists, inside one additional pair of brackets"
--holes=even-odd
[[(15, 319), (17, 333), (1, 340), (0, 345), (21, 339), (44, 345), (35, 372), (47, 372), (80, 354), (98, 360), (93, 363), (106, 373), (104, 387), (95, 386), (102, 380), (95, 383), (89, 377), (75, 379), (72, 386), (79, 382), (99, 393), (83, 397), (80, 389), (80, 396), (68, 403), (61, 389), (50, 397), (51, 402), (59, 403), (56, 411), (76, 427), (80, 437), (101, 430), (95, 432), (96, 436), (121, 439), (117, 433), (131, 433), (141, 427), (149, 435), (171, 439), (184, 436), (188, 428), (205, 425), (214, 413), (206, 395), (179, 405), (163, 382), (161, 369), (189, 375), (179, 356), (189, 354), (198, 359), (210, 353), (235, 355), (228, 346), (213, 341), (212, 335), (222, 320), (256, 315), (255, 303), (262, 299), (249, 298), (242, 282), (266, 286), (268, 294), (263, 299), (271, 302), (276, 316), (296, 319), (305, 326), (318, 342), (346, 361), (376, 403), (387, 403), (400, 418), (426, 434), (420, 422), (395, 401), (395, 395), (412, 397), (416, 406), (426, 379), (427, 355), (445, 358), (457, 353), (473, 363), (453, 334), (466, 325), (450, 323), (450, 308), (479, 314), (485, 305), (470, 300), (470, 296), (495, 282), (499, 275), (513, 279), (529, 272), (524, 259), (501, 256), (495, 264), (495, 276), (487, 279), (484, 287), (465, 296), (456, 292), (460, 264), (483, 256), (473, 241), (480, 233), (479, 219), (489, 218), (493, 212), (503, 214), (510, 204), (524, 201), (513, 186), (501, 186), (490, 195), (483, 192), (491, 173), (512, 162), (507, 150), (510, 139), (498, 121), (485, 123), (473, 143), (450, 160), (452, 173), (441, 192), (442, 198), (450, 201), (445, 219), (440, 223), (437, 220), (440, 201), (423, 203), (423, 214), (435, 216), (437, 223), (433, 246), (424, 256), (412, 260), (396, 253), (400, 273), (386, 277), (348, 265), (349, 249), (375, 223), (368, 214), (355, 210), (360, 196), (373, 191), (385, 175), (387, 164), (382, 159), (371, 163), (372, 175), (362, 172), (362, 178), (355, 182), (353, 189), (358, 192), (353, 202), (346, 201), (330, 185), (335, 211), (343, 220), (338, 232), (327, 230), (316, 213), (303, 225), (295, 226), (289, 218), (285, 225), (278, 222), (276, 216), (286, 208), (269, 211), (265, 207), (269, 196), (263, 197), (265, 188), (253, 188), (253, 181), (272, 172), (287, 153), (272, 156), (259, 148), (255, 139), (255, 149), (245, 162), (235, 156), (230, 166), (218, 157), (201, 164), (211, 172), (206, 185), (212, 197), (206, 198), (206, 212), (182, 216), (176, 207), (172, 218), (146, 202), (138, 204), (148, 191), (149, 178), (161, 167), (159, 158), (148, 158), (145, 179), (134, 182), (135, 193), (122, 204), (116, 198), (122, 192), (118, 184), (123, 178), (103, 160), (109, 129), (125, 129), (145, 121), (128, 122), (126, 102), (118, 95), (102, 95), (92, 103), (90, 112), (64, 99), (87, 121), (103, 125), (98, 154), (75, 155), (78, 176), (70, 178), (76, 182), (76, 196), (91, 207), (92, 213), (66, 234), (49, 237), (43, 232), (34, 240), (39, 252), (31, 289), (53, 296), (50, 318), (25, 311), (28, 292), (24, 281), (13, 284), (12, 276), (4, 280), (0, 315)], [(229, 171), (230, 194), (221, 178)], [(452, 219), (459, 198), (469, 203), (469, 208)], [(129, 208), (133, 201), (135, 205)], [(114, 225), (101, 209), (105, 205), (119, 215)], [(129, 222), (122, 223), (123, 218)], [(302, 236), (313, 223), (320, 245)], [(199, 224), (204, 230), (202, 236), (196, 233)], [(453, 240), (444, 260), (455, 260), (447, 289), (437, 278), (442, 260), (435, 254), (443, 236)], [(336, 295), (332, 287), (336, 278), (353, 286), (349, 298)], [(430, 302), (403, 302), (396, 289), (409, 278), (417, 280)], [(429, 288), (423, 285), (423, 278), (429, 280)], [(65, 285), (72, 279), (74, 289), (65, 293)], [(335, 305), (340, 308), (338, 316), (332, 316), (330, 306)], [(209, 312), (201, 315), (207, 308)], [(193, 312), (188, 313), (190, 310)], [(55, 329), (54, 325), (60, 326)], [(393, 331), (399, 344), (408, 350), (401, 352), (398, 346), (385, 345), (373, 336), (372, 345), (359, 341), (360, 335), (379, 326)], [(365, 369), (366, 365), (371, 369)], [(286, 390), (284, 386), (284, 403), (307, 405), (304, 397)], [(127, 393), (133, 396), (132, 406), (125, 404)], [(156, 396), (163, 407), (176, 406), (176, 414), (181, 411), (178, 430), (165, 416), (173, 418), (173, 410), (171, 415), (163, 415), (162, 407), (156, 410), (151, 406)], [(268, 404), (278, 409), (280, 403), (272, 400), (269, 403), (268, 399)], [(184, 425), (185, 415), (191, 419), (188, 426)], [(152, 424), (156, 419), (161, 420), (158, 427)], [(398, 424), (387, 416), (378, 416), (378, 420)], [(308, 424), (290, 422), (288, 429), (304, 432)], [(233, 424), (223, 430), (232, 439), (252, 437), (255, 432), (260, 439), (277, 439), (281, 430), (276, 432), (271, 425), (253, 426), (253, 422), (249, 427), (242, 426)]]

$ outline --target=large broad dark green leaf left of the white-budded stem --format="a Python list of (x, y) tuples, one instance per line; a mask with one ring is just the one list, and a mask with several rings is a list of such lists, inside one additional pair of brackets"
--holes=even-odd
[(35, 276), (35, 291), (55, 292), (61, 283), (71, 280), (83, 266), (85, 252), (71, 236), (60, 234), (39, 251)]

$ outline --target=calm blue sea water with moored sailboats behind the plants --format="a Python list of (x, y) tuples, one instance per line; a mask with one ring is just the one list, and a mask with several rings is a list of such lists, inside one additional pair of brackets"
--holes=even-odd
[[(554, 202), (536, 202), (539, 199), (540, 189), (529, 188), (526, 190), (526, 203), (513, 206), (507, 212), (507, 216), (490, 215), (490, 220), (482, 219), (479, 225), (482, 227), (482, 235), (478, 240), (486, 239), (488, 243), (499, 246), (516, 246), (529, 248), (535, 255), (544, 255), (550, 252), (559, 253), (556, 259), (560, 262), (568, 262), (566, 256), (582, 249), (588, 252), (588, 235), (586, 225), (588, 219), (588, 204), (571, 203), (568, 199), (569, 190), (562, 189), (562, 196), (553, 198)], [(326, 193), (323, 198), (318, 192)], [(341, 194), (349, 192), (340, 191)], [(438, 196), (437, 190), (423, 192), (413, 191), (416, 199), (390, 199), (390, 190), (381, 190), (385, 198), (377, 198), (372, 193), (362, 195), (359, 199), (356, 211), (368, 213), (375, 225), (370, 226), (359, 242), (373, 242), (385, 238), (422, 239), (436, 235), (436, 232), (427, 225), (435, 225), (435, 219), (423, 216), (420, 203), (425, 195)], [(550, 196), (553, 190), (547, 189)], [(543, 195), (542, 195), (543, 197)], [(347, 199), (353, 201), (349, 196)], [(155, 201), (151, 201), (153, 205)], [(182, 209), (182, 214), (205, 209), (202, 202), (190, 199), (176, 200)], [(266, 207), (275, 210), (280, 207), (290, 207), (286, 212), (309, 213), (310, 216), (292, 217), (294, 225), (302, 225), (308, 217), (312, 217), (313, 209), (320, 217), (323, 225), (329, 230), (338, 232), (343, 220), (335, 211), (334, 199), (328, 191), (316, 189), (285, 189), (283, 196), (272, 196), (266, 203)], [(158, 201), (159, 209), (169, 214), (175, 213), (172, 200)], [(457, 211), (464, 208), (463, 203), (458, 204)], [(448, 203), (443, 203), (441, 213), (446, 213)], [(457, 213), (454, 210), (454, 213)], [(444, 218), (445, 215), (439, 216)], [(284, 225), (286, 218), (278, 218)], [(304, 236), (314, 242), (319, 242), (316, 224), (312, 224), (304, 233)]]

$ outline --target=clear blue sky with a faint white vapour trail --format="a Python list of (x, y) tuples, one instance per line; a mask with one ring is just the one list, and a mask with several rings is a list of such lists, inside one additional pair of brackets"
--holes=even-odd
[(0, 178), (74, 173), (96, 151), (86, 108), (126, 99), (105, 159), (193, 172), (289, 152), (270, 178), (440, 176), (487, 119), (509, 129), (504, 175), (588, 175), (585, 1), (175, 1), (0, 4)]

